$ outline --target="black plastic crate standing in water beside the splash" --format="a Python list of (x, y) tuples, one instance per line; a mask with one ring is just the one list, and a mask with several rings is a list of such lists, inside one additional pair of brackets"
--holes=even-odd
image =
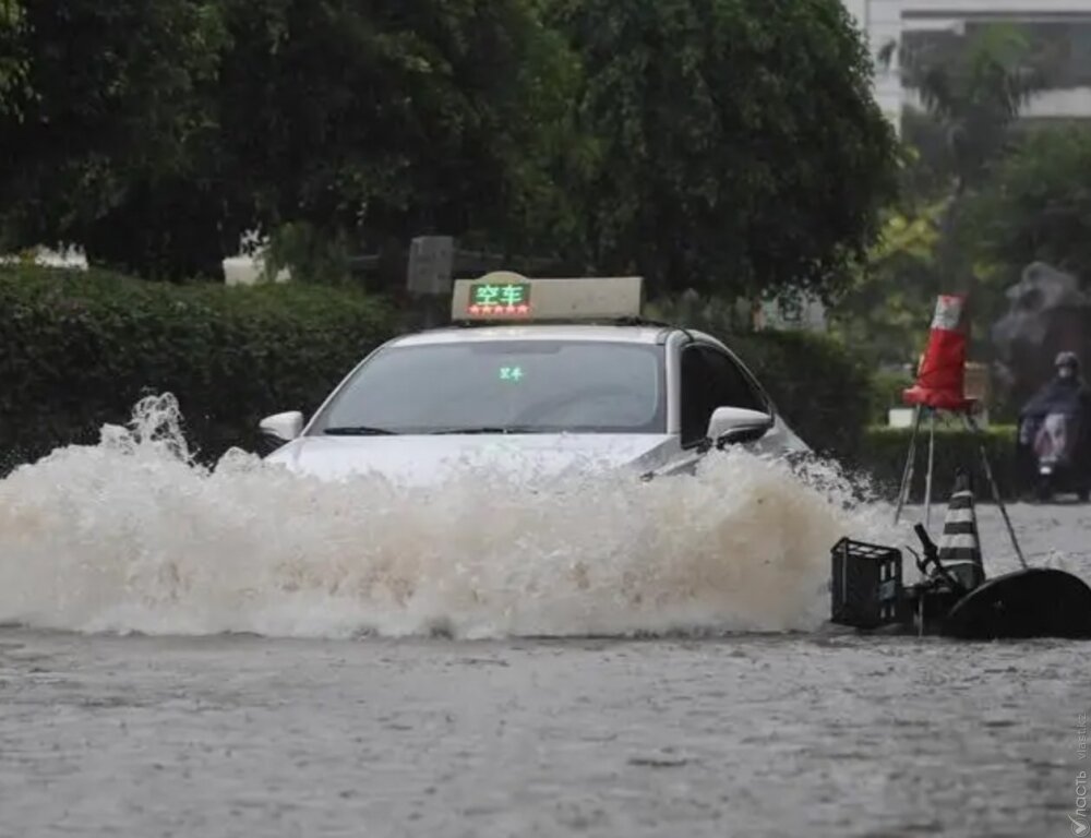
[(842, 538), (830, 559), (830, 622), (877, 628), (901, 620), (900, 550)]

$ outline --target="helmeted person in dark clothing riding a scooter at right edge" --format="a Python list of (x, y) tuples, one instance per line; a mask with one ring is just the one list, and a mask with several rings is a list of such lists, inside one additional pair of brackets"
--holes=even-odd
[[(1036, 474), (1035, 441), (1050, 414), (1063, 412), (1075, 419), (1076, 440), (1070, 448), (1074, 477), (1086, 494), (1091, 486), (1091, 391), (1080, 374), (1075, 352), (1059, 352), (1054, 360), (1056, 375), (1050, 380), (1019, 414), (1019, 471), (1033, 481)], [(1072, 416), (1075, 414), (1075, 416)]]

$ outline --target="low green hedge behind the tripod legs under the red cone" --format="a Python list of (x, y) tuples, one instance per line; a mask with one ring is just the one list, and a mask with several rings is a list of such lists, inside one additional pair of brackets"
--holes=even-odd
[[(983, 429), (988, 463), (1005, 500), (1017, 496), (1019, 491), (1016, 472), (1016, 432), (1015, 426), (992, 426)], [(909, 443), (912, 435), (911, 428), (887, 427), (868, 428), (864, 434), (861, 470), (867, 472), (875, 480), (876, 490), (887, 498), (897, 499), (898, 496), (898, 487), (901, 484), (901, 476), (906, 468), (906, 458), (909, 455)], [(910, 495), (913, 502), (924, 500), (927, 450), (927, 427), (922, 426), (921, 435), (916, 441), (913, 492)], [(958, 468), (966, 468), (973, 476), (979, 500), (992, 500), (993, 490), (985, 479), (979, 441), (964, 429), (937, 426), (932, 489), (934, 500), (939, 503), (947, 502), (947, 496), (954, 484), (955, 471)]]

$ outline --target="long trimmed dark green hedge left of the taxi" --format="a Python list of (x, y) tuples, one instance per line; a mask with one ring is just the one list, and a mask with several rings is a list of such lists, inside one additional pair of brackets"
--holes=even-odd
[(263, 416), (315, 409), (392, 322), (384, 303), (329, 288), (0, 267), (0, 474), (97, 442), (149, 392), (177, 396), (202, 462), (254, 451)]

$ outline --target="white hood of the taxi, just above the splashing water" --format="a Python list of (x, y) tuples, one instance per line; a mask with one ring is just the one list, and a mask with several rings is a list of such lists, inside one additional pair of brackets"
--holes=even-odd
[(502, 470), (521, 479), (628, 467), (657, 468), (676, 451), (666, 434), (511, 434), (467, 436), (303, 436), (265, 459), (324, 479), (377, 474), (411, 486), (456, 471)]

